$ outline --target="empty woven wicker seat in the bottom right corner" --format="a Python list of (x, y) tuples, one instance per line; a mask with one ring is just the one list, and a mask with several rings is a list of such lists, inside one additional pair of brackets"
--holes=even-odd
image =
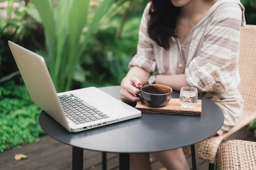
[(222, 144), (217, 170), (256, 170), (256, 142), (230, 140)]

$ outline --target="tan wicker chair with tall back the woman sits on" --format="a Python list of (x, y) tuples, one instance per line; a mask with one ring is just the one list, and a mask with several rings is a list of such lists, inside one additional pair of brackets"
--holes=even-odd
[[(216, 153), (221, 142), (256, 119), (256, 26), (247, 25), (241, 29), (239, 72), (239, 91), (245, 102), (239, 124), (221, 136), (213, 136), (198, 143), (199, 159), (209, 161), (209, 170), (215, 169)], [(191, 155), (190, 147), (183, 148), (183, 151)]]

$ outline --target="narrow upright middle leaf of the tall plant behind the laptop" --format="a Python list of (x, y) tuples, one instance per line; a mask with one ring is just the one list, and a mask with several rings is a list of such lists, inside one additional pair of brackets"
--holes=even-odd
[(56, 18), (56, 36), (57, 36), (57, 51), (55, 62), (55, 77), (58, 78), (59, 69), (61, 64), (65, 64), (64, 61), (64, 48), (67, 40), (68, 31), (68, 15), (70, 8), (70, 0), (58, 0), (55, 8)]

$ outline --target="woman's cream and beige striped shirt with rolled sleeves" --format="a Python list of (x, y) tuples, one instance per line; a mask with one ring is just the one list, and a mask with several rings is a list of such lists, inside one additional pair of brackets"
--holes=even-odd
[(137, 54), (129, 68), (139, 66), (165, 75), (186, 74), (188, 84), (201, 91), (220, 94), (237, 89), (240, 30), (245, 26), (244, 7), (239, 0), (218, 0), (182, 44), (170, 38), (169, 50), (148, 36), (149, 6), (143, 12)]

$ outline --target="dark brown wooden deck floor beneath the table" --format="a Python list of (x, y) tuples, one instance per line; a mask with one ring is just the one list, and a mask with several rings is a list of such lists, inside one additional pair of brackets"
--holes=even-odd
[[(256, 141), (245, 128), (230, 136), (230, 139)], [(16, 161), (15, 154), (23, 153), (28, 155), (27, 159)], [(108, 170), (119, 170), (118, 154), (108, 153)], [(41, 138), (40, 142), (23, 144), (22, 146), (0, 153), (0, 170), (71, 170), (72, 147), (62, 144), (49, 136)], [(190, 167), (191, 158), (187, 156)], [(84, 170), (101, 170), (101, 153), (84, 150)], [(163, 167), (158, 161), (152, 159), (152, 170), (159, 170)], [(208, 162), (200, 161), (200, 170), (207, 170)]]

